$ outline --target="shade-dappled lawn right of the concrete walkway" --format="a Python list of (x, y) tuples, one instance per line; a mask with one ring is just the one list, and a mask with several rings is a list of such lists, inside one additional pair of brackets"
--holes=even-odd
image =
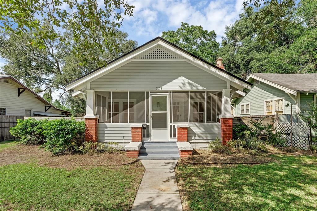
[(266, 164), (176, 167), (184, 210), (317, 210), (317, 157)]

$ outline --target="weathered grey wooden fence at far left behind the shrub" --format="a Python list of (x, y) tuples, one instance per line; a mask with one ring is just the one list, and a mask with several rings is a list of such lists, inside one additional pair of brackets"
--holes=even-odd
[(16, 125), (17, 119), (24, 119), (24, 116), (0, 116), (0, 141), (16, 140), (10, 128)]

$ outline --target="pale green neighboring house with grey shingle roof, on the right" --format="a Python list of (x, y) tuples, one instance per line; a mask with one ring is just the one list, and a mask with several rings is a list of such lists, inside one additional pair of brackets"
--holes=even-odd
[(317, 100), (317, 74), (250, 74), (247, 81), (252, 89), (231, 100), (234, 116), (305, 112)]

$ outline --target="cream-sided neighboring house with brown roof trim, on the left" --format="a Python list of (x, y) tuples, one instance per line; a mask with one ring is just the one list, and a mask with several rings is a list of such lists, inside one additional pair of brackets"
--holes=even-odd
[(0, 74), (0, 115), (67, 116), (11, 75)]

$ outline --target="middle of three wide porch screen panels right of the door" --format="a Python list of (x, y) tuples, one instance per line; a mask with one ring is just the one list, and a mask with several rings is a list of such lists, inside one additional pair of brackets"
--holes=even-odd
[(190, 92), (190, 122), (204, 122), (205, 112), (205, 91)]

